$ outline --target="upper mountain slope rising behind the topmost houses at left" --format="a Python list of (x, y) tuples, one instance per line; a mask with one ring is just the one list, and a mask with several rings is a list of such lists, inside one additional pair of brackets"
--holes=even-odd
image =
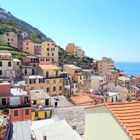
[(30, 24), (16, 18), (10, 12), (0, 8), (0, 33), (14, 31), (16, 33), (27, 32), (29, 38), (35, 42), (51, 40), (44, 33)]

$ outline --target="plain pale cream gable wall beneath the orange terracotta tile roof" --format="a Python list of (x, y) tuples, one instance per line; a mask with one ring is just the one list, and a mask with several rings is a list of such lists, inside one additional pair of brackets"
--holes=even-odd
[(85, 140), (130, 140), (106, 106), (87, 110), (84, 138)]

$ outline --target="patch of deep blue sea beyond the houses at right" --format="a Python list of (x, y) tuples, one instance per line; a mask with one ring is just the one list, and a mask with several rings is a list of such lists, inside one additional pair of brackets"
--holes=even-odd
[(140, 75), (140, 62), (115, 62), (115, 66), (128, 75)]

